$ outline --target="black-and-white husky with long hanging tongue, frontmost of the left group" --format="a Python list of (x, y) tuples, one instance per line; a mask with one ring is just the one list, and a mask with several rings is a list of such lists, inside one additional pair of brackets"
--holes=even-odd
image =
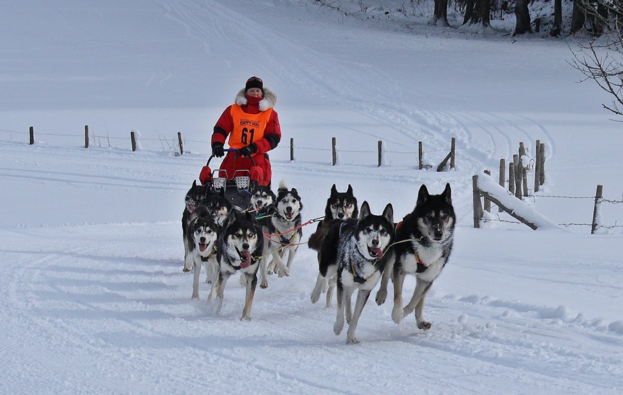
[(262, 228), (255, 215), (231, 210), (219, 236), (219, 268), (213, 276), (212, 290), (208, 296), (208, 303), (216, 300), (216, 313), (219, 313), (223, 305), (227, 280), (240, 270), (240, 275), (246, 278), (246, 299), (240, 320), (251, 320), (251, 306), (255, 287), (258, 285), (258, 268), (263, 248)]

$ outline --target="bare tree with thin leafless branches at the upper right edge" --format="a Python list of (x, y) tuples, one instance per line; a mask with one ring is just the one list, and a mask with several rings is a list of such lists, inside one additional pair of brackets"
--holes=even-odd
[(593, 38), (577, 44), (570, 64), (584, 74), (582, 81), (593, 80), (611, 95), (611, 104), (602, 107), (623, 117), (623, 0), (575, 1), (584, 6)]

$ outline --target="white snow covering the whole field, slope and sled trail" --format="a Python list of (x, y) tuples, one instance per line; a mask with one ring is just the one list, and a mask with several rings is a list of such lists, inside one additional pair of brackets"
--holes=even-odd
[[(568, 64), (582, 38), (511, 37), (512, 14), (482, 34), (428, 26), (430, 2), (406, 15), (398, 0), (365, 12), (366, 1), (336, 3), (3, 6), (0, 393), (620, 391), (622, 138), (601, 107), (606, 93), (578, 84)], [(391, 301), (371, 297), (361, 343), (346, 345), (332, 331), (335, 310), (309, 300), (318, 269), (306, 246), (289, 277), (258, 289), (250, 322), (240, 321), (236, 279), (219, 315), (207, 284), (190, 300), (183, 196), (251, 75), (278, 95), (273, 181), (297, 188), (304, 221), (323, 215), (334, 183), (350, 183), (374, 213), (392, 203), (396, 219), (422, 183), (431, 193), (451, 183), (455, 246), (428, 295), (429, 331), (413, 316), (394, 324)], [(456, 167), (436, 172), (452, 137)], [(499, 159), (520, 142), (534, 157), (535, 140), (545, 143), (545, 184), (521, 204), (555, 226), (533, 231), (494, 207), (473, 229), (471, 177), (491, 169), (496, 180)], [(431, 169), (417, 169), (419, 141)], [(590, 235), (598, 184), (608, 202)], [(414, 286), (408, 277), (405, 295)]]

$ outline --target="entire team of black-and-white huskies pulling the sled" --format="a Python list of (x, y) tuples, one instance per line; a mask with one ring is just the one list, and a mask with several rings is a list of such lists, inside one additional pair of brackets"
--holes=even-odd
[[(206, 266), (206, 282), (212, 284), (208, 303), (215, 312), (222, 307), (228, 278), (240, 271), (240, 283), (246, 287), (241, 320), (251, 320), (251, 306), (260, 271), (260, 288), (267, 288), (268, 275), (289, 275), (300, 246), (302, 233), (301, 203), (298, 191), (282, 181), (274, 194), (270, 187), (251, 191), (250, 207), (243, 212), (232, 208), (224, 193), (210, 190), (210, 185), (193, 183), (186, 194), (182, 216), (184, 271), (193, 273), (192, 299), (199, 298), (199, 275)], [(381, 214), (372, 214), (367, 201), (358, 207), (352, 186), (338, 192), (333, 185), (325, 217), (307, 244), (317, 252), (318, 277), (311, 302), (326, 293), (325, 304), (332, 306), (336, 289), (334, 333), (339, 335), (348, 323), (346, 340), (357, 343), (357, 322), (370, 292), (381, 282), (375, 300), (381, 305), (391, 279), (394, 290), (392, 320), (397, 324), (415, 311), (419, 329), (430, 329), (424, 320), (424, 300), (440, 275), (453, 245), (455, 213), (451, 188), (446, 184), (441, 194), (429, 194), (422, 185), (413, 212), (394, 222), (388, 203)], [(286, 260), (287, 255), (287, 260)], [(413, 295), (403, 304), (402, 288), (406, 275), (415, 275)], [(352, 295), (357, 292), (354, 309)]]

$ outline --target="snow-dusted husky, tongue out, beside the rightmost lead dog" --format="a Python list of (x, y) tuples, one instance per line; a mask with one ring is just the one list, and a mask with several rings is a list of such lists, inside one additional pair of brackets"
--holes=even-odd
[[(334, 221), (327, 232), (320, 255), (320, 272), (336, 270), (337, 312), (333, 331), (336, 335), (342, 332), (345, 317), (349, 345), (359, 342), (355, 337), (357, 322), (385, 268), (386, 259), (383, 258), (394, 237), (393, 222), (391, 203), (386, 205), (383, 214), (374, 215), (364, 201), (359, 219)], [(353, 311), (351, 297), (355, 290), (359, 292)]]

